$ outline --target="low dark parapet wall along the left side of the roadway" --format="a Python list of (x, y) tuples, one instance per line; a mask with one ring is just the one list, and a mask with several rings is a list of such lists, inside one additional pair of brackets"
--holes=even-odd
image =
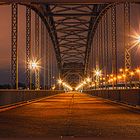
[(26, 102), (62, 93), (59, 90), (0, 90), (0, 106)]

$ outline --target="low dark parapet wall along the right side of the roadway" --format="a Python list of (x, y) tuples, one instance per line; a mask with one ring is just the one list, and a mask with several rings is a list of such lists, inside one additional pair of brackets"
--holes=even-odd
[(83, 92), (133, 106), (140, 106), (140, 89), (86, 90)]

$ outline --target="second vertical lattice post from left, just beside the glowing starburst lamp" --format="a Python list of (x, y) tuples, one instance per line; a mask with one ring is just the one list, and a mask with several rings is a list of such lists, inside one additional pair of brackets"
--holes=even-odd
[(27, 89), (31, 89), (30, 59), (31, 59), (31, 8), (26, 7), (26, 88)]

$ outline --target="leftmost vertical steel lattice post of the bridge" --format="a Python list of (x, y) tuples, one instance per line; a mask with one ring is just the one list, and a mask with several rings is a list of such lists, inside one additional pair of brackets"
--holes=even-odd
[(11, 86), (18, 89), (18, 5), (12, 4), (11, 29)]

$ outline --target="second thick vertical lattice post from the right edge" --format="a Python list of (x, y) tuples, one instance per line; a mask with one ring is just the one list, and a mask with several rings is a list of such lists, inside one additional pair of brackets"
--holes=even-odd
[[(117, 36), (116, 36), (116, 5), (111, 8), (111, 29), (112, 29), (112, 73), (116, 77), (117, 88)], [(113, 82), (114, 83), (114, 82)], [(114, 86), (114, 85), (113, 85)]]

